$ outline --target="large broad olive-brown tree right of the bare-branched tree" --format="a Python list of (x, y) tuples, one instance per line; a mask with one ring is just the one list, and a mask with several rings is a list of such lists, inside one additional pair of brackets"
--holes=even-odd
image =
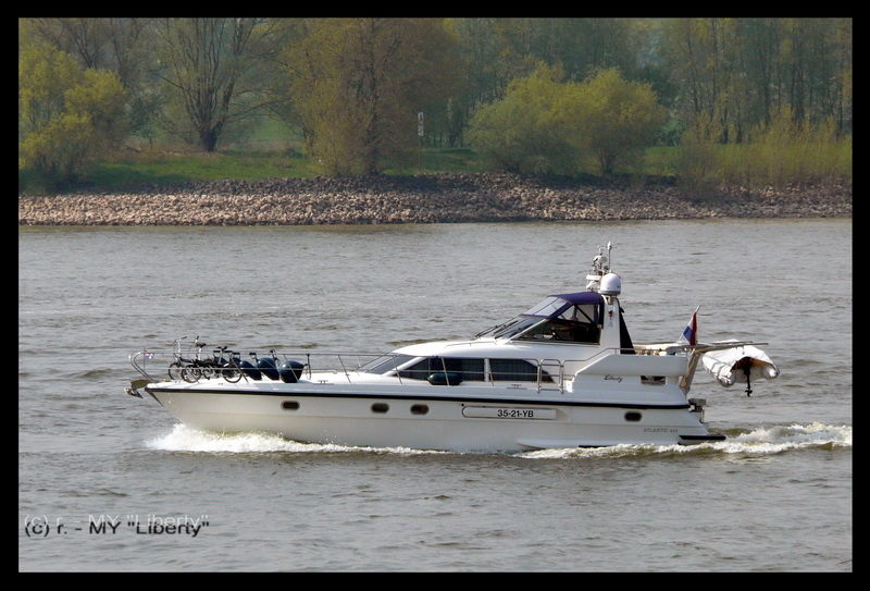
[(417, 114), (450, 96), (455, 42), (442, 20), (323, 19), (286, 52), (290, 95), (322, 172), (377, 174), (413, 153)]

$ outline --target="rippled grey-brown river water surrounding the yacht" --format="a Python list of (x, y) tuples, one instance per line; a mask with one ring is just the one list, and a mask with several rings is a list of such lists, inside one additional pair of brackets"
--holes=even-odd
[[(123, 389), (178, 336), (382, 352), (584, 288), (635, 342), (751, 338), (696, 377), (723, 443), (523, 454), (197, 432)], [(852, 571), (852, 220), (18, 230), (23, 571)], [(249, 348), (245, 348), (249, 347)]]

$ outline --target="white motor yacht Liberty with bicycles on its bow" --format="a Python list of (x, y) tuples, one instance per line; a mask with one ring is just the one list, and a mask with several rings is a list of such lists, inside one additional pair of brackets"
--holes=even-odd
[(693, 378), (706, 367), (748, 394), (779, 374), (755, 346), (763, 343), (698, 343), (697, 310), (679, 338), (634, 343), (610, 257), (610, 244), (598, 248), (584, 291), (548, 295), (464, 341), (250, 359), (178, 342), (130, 354), (140, 377), (126, 392), (196, 429), (347, 446), (510, 452), (725, 439), (708, 429), (705, 399), (689, 395)]

